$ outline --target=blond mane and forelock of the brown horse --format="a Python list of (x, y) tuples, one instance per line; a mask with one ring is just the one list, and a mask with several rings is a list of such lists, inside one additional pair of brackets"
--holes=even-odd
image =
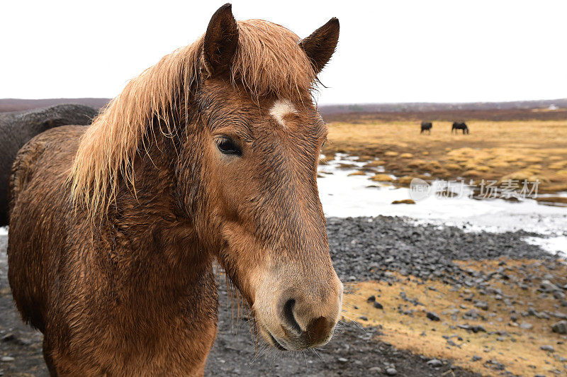
[[(274, 94), (301, 99), (316, 79), (299, 38), (283, 26), (267, 21), (238, 21), (238, 46), (232, 60), (232, 84), (242, 84), (258, 98)], [(153, 120), (171, 135), (170, 114), (198, 86), (203, 51), (201, 36), (181, 47), (131, 80), (97, 116), (79, 143), (69, 175), (74, 203), (82, 203), (89, 218), (103, 213), (116, 199), (123, 177), (133, 186), (135, 154), (145, 147)]]

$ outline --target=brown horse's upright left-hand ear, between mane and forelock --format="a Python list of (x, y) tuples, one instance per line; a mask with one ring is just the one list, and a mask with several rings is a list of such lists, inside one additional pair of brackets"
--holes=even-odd
[(232, 5), (221, 6), (210, 18), (203, 42), (203, 64), (207, 77), (228, 72), (238, 45), (238, 28)]

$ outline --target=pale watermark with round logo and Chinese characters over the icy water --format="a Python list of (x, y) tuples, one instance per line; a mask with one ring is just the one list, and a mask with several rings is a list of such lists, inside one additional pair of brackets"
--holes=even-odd
[(421, 201), (435, 196), (437, 198), (480, 198), (480, 199), (507, 199), (520, 200), (537, 198), (539, 180), (527, 181), (526, 179), (505, 179), (496, 181), (483, 179), (475, 184), (464, 179), (460, 181), (436, 180), (427, 182), (420, 178), (412, 179), (410, 183), (410, 198)]

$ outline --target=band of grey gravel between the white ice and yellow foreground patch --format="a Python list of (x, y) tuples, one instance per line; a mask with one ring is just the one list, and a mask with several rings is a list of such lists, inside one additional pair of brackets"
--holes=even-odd
[(556, 257), (523, 237), (529, 232), (464, 232), (458, 227), (413, 225), (404, 218), (329, 218), (331, 258), (342, 281), (388, 279), (387, 271), (446, 283), (471, 285), (454, 259), (540, 259)]

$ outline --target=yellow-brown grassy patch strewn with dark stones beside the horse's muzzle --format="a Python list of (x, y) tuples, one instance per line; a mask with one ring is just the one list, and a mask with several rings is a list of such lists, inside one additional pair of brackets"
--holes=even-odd
[[(558, 318), (522, 315), (529, 305), (534, 305), (536, 312), (562, 310), (556, 308), (552, 296), (541, 295), (537, 284), (522, 288), (527, 275), (532, 281), (544, 279), (549, 273), (544, 263), (512, 259), (455, 262), (463, 269), (487, 272), (498, 271), (504, 265), (507, 278), (496, 279), (490, 285), (492, 291), (481, 293), (477, 288), (455, 289), (438, 280), (423, 281), (393, 273), (391, 283), (364, 281), (349, 285), (345, 313), (363, 326), (381, 326), (380, 339), (395, 347), (430, 358), (452, 359), (454, 364), (483, 376), (498, 376), (503, 369), (518, 376), (565, 371), (567, 337), (551, 331)], [(561, 271), (556, 269), (554, 275), (563, 276), (565, 283), (567, 265), (558, 264), (558, 269)], [(370, 296), (375, 296), (383, 309), (369, 302)], [(413, 299), (417, 305), (411, 303)], [(487, 310), (475, 307), (477, 299), (488, 304)], [(439, 320), (428, 319), (430, 312)], [(477, 315), (467, 317), (467, 313)], [(482, 330), (475, 332), (467, 326), (480, 326)], [(540, 349), (542, 345), (550, 345), (554, 351)]]

